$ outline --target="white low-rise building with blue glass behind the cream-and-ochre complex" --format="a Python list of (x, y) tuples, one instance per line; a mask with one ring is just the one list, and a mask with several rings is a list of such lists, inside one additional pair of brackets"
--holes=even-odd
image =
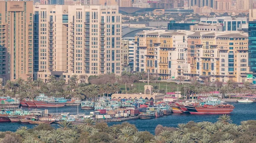
[(212, 18), (201, 18), (201, 22), (204, 23), (221, 23), (224, 26), (224, 31), (237, 31), (239, 25), (247, 25), (247, 18), (246, 17), (212, 17)]

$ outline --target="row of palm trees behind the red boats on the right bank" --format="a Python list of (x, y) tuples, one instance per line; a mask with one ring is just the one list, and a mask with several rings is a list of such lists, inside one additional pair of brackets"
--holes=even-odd
[(181, 88), (181, 95), (185, 95), (186, 98), (194, 98), (195, 96), (201, 95), (214, 95), (215, 91), (221, 93), (222, 98), (230, 95), (255, 95), (256, 90), (250, 87), (249, 82), (244, 82), (243, 84), (237, 84), (233, 81), (227, 81), (225, 84), (222, 82), (213, 82), (206, 84), (199, 84), (198, 82), (193, 82), (192, 84), (184, 84)]

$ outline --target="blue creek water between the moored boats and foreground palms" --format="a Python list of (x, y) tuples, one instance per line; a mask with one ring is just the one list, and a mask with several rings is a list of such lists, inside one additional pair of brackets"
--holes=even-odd
[[(241, 121), (245, 120), (256, 120), (256, 103), (232, 103), (235, 109), (230, 114), (233, 123), (239, 124)], [(27, 108), (24, 108), (27, 109)], [(38, 108), (44, 110), (45, 108)], [(56, 113), (56, 108), (48, 108), (49, 113)], [(89, 114), (92, 110), (81, 110), (79, 107), (79, 113)], [(77, 107), (61, 107), (58, 108), (58, 112), (70, 112), (70, 114), (77, 113)], [(186, 114), (172, 114), (168, 116), (163, 116), (160, 118), (154, 118), (149, 120), (130, 120), (128, 123), (134, 124), (139, 131), (148, 131), (154, 134), (154, 129), (158, 124), (163, 126), (176, 127), (178, 123), (188, 123), (189, 121), (201, 122), (209, 121), (216, 122), (219, 115), (186, 115)], [(109, 126), (113, 124), (118, 124), (122, 122), (111, 122), (108, 123)], [(0, 131), (16, 131), (20, 126), (27, 126), (32, 128), (35, 125), (27, 123), (0, 123)], [(57, 127), (57, 124), (52, 124), (52, 126)]]

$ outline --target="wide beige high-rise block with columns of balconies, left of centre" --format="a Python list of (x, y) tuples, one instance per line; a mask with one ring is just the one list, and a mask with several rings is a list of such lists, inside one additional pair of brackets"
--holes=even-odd
[(34, 55), (38, 78), (121, 74), (122, 15), (117, 6), (34, 8), (34, 22), (39, 23), (34, 27), (39, 39), (39, 54)]

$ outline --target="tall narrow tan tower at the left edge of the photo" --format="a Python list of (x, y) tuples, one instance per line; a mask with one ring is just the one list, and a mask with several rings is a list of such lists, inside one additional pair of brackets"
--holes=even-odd
[(0, 78), (32, 77), (33, 2), (0, 2)]

